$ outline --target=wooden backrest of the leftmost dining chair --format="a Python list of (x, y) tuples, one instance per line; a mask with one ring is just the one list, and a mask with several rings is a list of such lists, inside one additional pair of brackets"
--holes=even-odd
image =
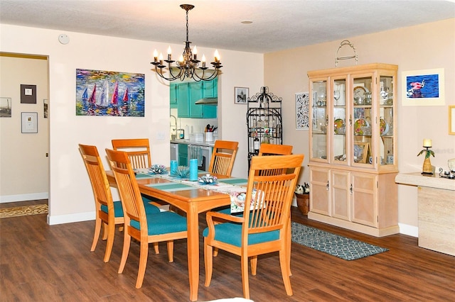
[(79, 150), (82, 159), (84, 160), (85, 167), (87, 168), (95, 201), (102, 205), (109, 206), (109, 203), (112, 203), (112, 193), (97, 147), (79, 144)]

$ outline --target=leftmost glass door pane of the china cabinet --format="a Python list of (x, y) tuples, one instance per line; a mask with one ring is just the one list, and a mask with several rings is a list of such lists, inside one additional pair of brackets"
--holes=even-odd
[(327, 82), (312, 82), (311, 89), (311, 158), (327, 160)]

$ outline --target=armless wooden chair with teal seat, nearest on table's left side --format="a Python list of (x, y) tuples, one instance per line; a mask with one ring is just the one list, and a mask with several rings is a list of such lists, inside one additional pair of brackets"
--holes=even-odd
[(136, 288), (140, 289), (149, 256), (149, 243), (167, 242), (168, 260), (173, 262), (173, 240), (188, 238), (186, 218), (171, 211), (147, 214), (127, 152), (106, 149), (124, 209), (124, 240), (119, 274), (122, 274), (133, 237), (140, 243)]

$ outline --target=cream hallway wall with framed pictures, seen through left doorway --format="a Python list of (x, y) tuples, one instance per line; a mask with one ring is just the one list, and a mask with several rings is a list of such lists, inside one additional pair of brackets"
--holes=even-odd
[[(48, 198), (46, 57), (0, 55), (0, 96), (11, 98), (11, 118), (0, 118), (0, 202)], [(21, 84), (36, 85), (36, 104), (21, 104)], [(21, 133), (21, 113), (38, 113), (38, 133)]]

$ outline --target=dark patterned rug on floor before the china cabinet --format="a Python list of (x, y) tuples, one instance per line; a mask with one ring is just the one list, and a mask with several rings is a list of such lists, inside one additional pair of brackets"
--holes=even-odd
[(388, 249), (291, 222), (292, 241), (345, 260), (355, 260)]

